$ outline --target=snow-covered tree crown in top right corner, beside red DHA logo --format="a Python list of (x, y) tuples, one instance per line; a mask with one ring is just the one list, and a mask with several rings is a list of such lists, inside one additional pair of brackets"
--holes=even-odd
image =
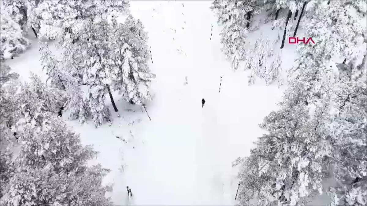
[(329, 5), (321, 4), (315, 9), (312, 18), (309, 17), (309, 22), (303, 25), (307, 35), (316, 40), (315, 47), (323, 45), (328, 56), (341, 54), (341, 58), (351, 60), (361, 55), (360, 50), (366, 50), (364, 40), (367, 20), (362, 11), (356, 11), (352, 2), (332, 1)]

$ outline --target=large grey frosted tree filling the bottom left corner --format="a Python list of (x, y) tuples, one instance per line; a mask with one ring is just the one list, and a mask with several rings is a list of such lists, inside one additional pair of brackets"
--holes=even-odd
[(88, 166), (97, 155), (61, 119), (51, 118), (43, 130), (25, 126), (19, 153), (9, 166), (13, 172), (4, 182), (1, 204), (15, 205), (105, 205), (110, 206), (102, 186), (109, 172), (101, 165)]

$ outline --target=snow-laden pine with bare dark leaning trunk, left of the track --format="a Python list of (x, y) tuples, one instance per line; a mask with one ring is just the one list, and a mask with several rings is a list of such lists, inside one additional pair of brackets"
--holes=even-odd
[(111, 90), (118, 91), (125, 100), (135, 104), (151, 99), (149, 83), (155, 75), (146, 63), (147, 35), (140, 21), (129, 15), (123, 23), (114, 17), (85, 22), (78, 39), (73, 43), (63, 42), (62, 64), (80, 85), (89, 87), (89, 103), (86, 103), (98, 107), (90, 108), (93, 110), (90, 114), (98, 119), (95, 124), (100, 125), (103, 119), (109, 119), (109, 111), (104, 107), (107, 92), (118, 111)]

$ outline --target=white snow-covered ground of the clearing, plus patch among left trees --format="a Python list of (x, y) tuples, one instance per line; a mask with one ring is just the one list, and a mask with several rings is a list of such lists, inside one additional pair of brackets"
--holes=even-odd
[[(100, 151), (91, 163), (112, 170), (105, 183), (114, 183), (115, 205), (128, 204), (127, 185), (131, 205), (234, 205), (237, 171), (231, 163), (249, 154), (264, 132), (258, 124), (277, 108), (282, 89), (261, 82), (249, 87), (248, 72), (230, 69), (211, 1), (130, 4), (148, 31), (150, 68), (157, 75), (147, 104), (152, 120), (115, 94), (120, 117), (113, 112), (112, 125), (68, 124), (83, 144)], [(30, 70), (43, 74), (37, 43), (7, 63), (23, 80)]]

